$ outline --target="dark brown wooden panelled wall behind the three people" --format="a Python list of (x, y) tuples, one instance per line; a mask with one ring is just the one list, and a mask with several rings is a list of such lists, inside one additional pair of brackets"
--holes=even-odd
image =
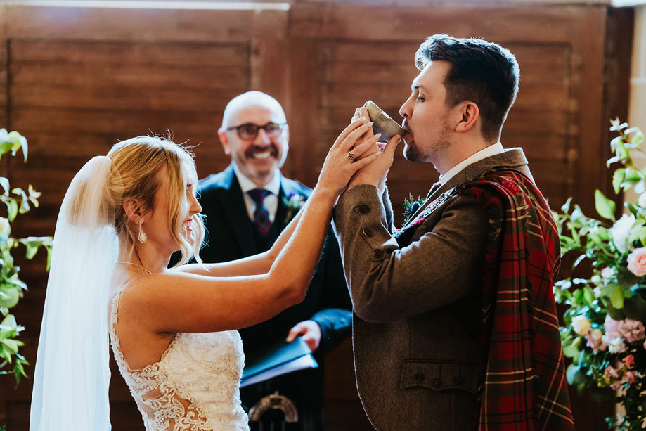
[[(247, 89), (283, 103), (291, 134), (283, 171), (314, 186), (327, 149), (358, 105), (372, 99), (399, 118), (417, 72), (415, 49), (439, 32), (484, 37), (516, 54), (522, 81), (503, 144), (524, 148), (553, 207), (573, 195), (591, 212), (593, 190), (608, 190), (607, 119), (626, 117), (631, 16), (605, 6), (1, 6), (0, 126), (30, 143), (27, 164), (3, 160), (1, 169), (12, 184), (43, 192), (41, 207), (21, 217), (14, 233), (53, 234), (72, 176), (119, 139), (172, 131), (176, 141), (196, 146), (200, 176), (223, 169), (228, 159), (216, 129), (226, 102)], [(408, 193), (425, 195), (435, 179), (432, 166), (398, 155), (389, 174), (394, 208)], [(27, 328), (24, 353), (33, 363), (44, 257), (21, 264), (30, 290), (14, 311)], [(356, 396), (349, 341), (328, 356), (326, 373), (328, 430), (371, 429)], [(113, 374), (113, 428), (142, 430), (122, 379)], [(0, 425), (27, 430), (30, 392), (30, 380), (14, 390), (11, 377), (0, 376)], [(612, 406), (598, 409), (573, 398), (578, 429), (606, 429), (602, 418)]]

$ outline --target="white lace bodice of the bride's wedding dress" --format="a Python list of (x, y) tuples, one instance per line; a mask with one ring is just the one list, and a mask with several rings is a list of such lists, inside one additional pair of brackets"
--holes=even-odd
[(117, 336), (122, 292), (111, 302), (110, 340), (146, 431), (249, 430), (240, 406), (244, 354), (238, 331), (176, 333), (159, 362), (132, 370)]

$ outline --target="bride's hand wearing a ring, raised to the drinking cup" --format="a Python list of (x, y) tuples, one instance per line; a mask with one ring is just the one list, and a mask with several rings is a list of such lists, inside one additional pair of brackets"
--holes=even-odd
[(337, 198), (355, 172), (381, 155), (377, 146), (380, 135), (366, 137), (366, 132), (373, 127), (373, 123), (364, 124), (364, 120), (362, 117), (351, 122), (330, 148), (321, 174), (318, 175), (316, 188), (319, 191), (330, 191)]

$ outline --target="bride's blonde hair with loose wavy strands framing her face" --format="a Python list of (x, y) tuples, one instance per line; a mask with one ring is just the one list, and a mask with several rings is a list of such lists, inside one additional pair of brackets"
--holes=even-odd
[[(119, 238), (126, 245), (134, 247), (138, 229), (128, 222), (123, 204), (127, 200), (136, 199), (145, 210), (153, 208), (155, 193), (160, 186), (157, 178), (164, 167), (168, 168), (169, 186), (169, 228), (173, 238), (179, 244), (181, 259), (175, 266), (188, 262), (195, 257), (200, 259), (200, 247), (204, 239), (204, 224), (201, 214), (193, 215), (190, 229), (193, 238), (182, 235), (182, 207), (186, 202), (185, 176), (193, 181), (195, 189), (198, 185), (198, 173), (195, 171), (193, 155), (176, 143), (158, 136), (137, 136), (121, 141), (112, 147), (108, 157), (119, 172), (121, 196), (115, 202), (115, 229)], [(187, 204), (188, 205), (188, 204)]]

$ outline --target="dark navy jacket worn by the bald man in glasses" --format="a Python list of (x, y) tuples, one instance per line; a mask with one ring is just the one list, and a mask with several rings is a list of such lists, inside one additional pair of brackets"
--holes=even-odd
[[(254, 226), (247, 214), (247, 207), (238, 179), (232, 166), (223, 172), (202, 179), (199, 184), (202, 214), (205, 214), (207, 245), (200, 251), (200, 257), (207, 263), (227, 262), (267, 250), (278, 238), (295, 211), (285, 205), (285, 198), (299, 195), (309, 198), (311, 189), (298, 181), (281, 177), (278, 195), (278, 210), (266, 245), (259, 244)], [(313, 320), (321, 327), (321, 345), (315, 357), (320, 364), (317, 370), (299, 371), (276, 378), (276, 387), (281, 394), (290, 397), (297, 404), (320, 406), (322, 403), (322, 359), (328, 352), (349, 335), (351, 325), (351, 302), (341, 263), (339, 245), (330, 230), (325, 240), (321, 260), (312, 277), (305, 300), (289, 307), (272, 319), (250, 328), (240, 330), (245, 354), (253, 352), (268, 340), (287, 337), (292, 326), (300, 321)], [(270, 382), (271, 384), (271, 382)], [(262, 384), (260, 384), (262, 385)], [(267, 387), (267, 384), (264, 385)], [(273, 393), (268, 392), (269, 393)], [(253, 403), (244, 399), (250, 391), (243, 388), (243, 404)], [(266, 395), (265, 394), (265, 395)]]

